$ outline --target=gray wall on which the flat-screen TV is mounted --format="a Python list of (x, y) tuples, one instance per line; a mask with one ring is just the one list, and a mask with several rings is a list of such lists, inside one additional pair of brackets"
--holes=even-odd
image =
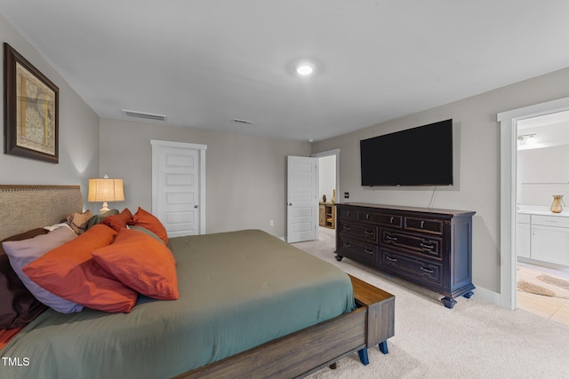
[[(383, 122), (313, 145), (312, 153), (336, 148), (340, 154), (341, 192), (349, 201), (475, 210), (474, 284), (500, 293), (500, 125), (496, 114), (569, 96), (569, 68), (469, 99)], [(359, 140), (453, 118), (454, 186), (362, 187)]]

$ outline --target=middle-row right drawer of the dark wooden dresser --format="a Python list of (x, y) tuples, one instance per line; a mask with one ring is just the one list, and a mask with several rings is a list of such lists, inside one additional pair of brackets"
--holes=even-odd
[(405, 249), (419, 256), (443, 260), (443, 240), (441, 238), (381, 229), (381, 243)]

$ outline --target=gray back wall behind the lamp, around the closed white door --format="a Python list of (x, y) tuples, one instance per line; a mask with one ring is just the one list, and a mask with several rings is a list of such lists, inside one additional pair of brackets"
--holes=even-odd
[(207, 233), (255, 228), (284, 237), (286, 156), (309, 156), (309, 143), (102, 119), (100, 174), (124, 178), (125, 199), (116, 208), (152, 209), (150, 139), (207, 145)]

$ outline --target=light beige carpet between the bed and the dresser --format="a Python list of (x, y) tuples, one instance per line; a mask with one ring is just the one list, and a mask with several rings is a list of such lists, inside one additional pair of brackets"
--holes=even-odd
[(569, 378), (569, 327), (489, 304), (476, 290), (447, 309), (433, 292), (348, 258), (337, 262), (334, 245), (333, 230), (321, 231), (319, 241), (293, 244), (395, 295), (395, 336), (389, 354), (369, 350), (368, 366), (355, 353), (310, 379)]

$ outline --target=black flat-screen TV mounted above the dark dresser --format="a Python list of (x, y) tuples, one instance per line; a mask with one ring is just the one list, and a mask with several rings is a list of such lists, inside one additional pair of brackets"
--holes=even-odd
[(360, 141), (362, 186), (452, 186), (453, 120)]

